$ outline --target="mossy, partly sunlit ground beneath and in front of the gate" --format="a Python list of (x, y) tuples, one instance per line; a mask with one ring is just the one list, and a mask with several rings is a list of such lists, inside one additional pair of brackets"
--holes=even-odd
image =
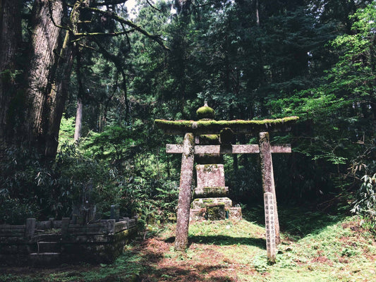
[(267, 263), (262, 213), (244, 211), (241, 221), (191, 223), (186, 252), (174, 252), (169, 224), (147, 231), (114, 264), (2, 268), (0, 281), (376, 281), (375, 238), (358, 218), (280, 211), (276, 264)]

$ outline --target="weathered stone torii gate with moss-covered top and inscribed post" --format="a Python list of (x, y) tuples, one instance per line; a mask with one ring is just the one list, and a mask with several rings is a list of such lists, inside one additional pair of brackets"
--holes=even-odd
[[(271, 146), (269, 132), (289, 131), (298, 120), (297, 116), (263, 121), (214, 121), (214, 110), (202, 106), (197, 111), (199, 121), (155, 120), (155, 124), (165, 134), (184, 135), (182, 145), (166, 145), (167, 153), (180, 153), (181, 178), (178, 196), (175, 249), (184, 250), (188, 246), (188, 226), (195, 154), (260, 154), (262, 189), (265, 198), (265, 227), (267, 254), (272, 262), (275, 259), (276, 243), (279, 238), (277, 199), (274, 187), (272, 153), (291, 153), (291, 145)], [(231, 135), (257, 135), (258, 145), (233, 145)], [(220, 135), (220, 145), (196, 145), (200, 135)]]

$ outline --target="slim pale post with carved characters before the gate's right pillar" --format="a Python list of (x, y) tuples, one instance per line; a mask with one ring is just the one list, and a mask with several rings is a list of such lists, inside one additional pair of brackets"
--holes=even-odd
[(264, 193), (265, 233), (267, 240), (267, 259), (274, 263), (276, 257), (276, 240), (274, 227), (274, 200), (271, 192)]

